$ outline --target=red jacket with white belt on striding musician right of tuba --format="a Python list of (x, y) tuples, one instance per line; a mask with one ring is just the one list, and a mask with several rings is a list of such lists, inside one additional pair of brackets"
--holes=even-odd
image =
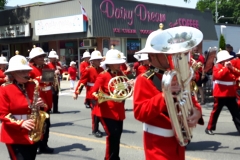
[[(214, 97), (236, 97), (237, 86), (235, 82), (237, 77), (240, 76), (240, 70), (233, 68), (230, 70), (218, 63), (213, 67), (213, 96)], [(234, 84), (224, 84), (234, 83)]]

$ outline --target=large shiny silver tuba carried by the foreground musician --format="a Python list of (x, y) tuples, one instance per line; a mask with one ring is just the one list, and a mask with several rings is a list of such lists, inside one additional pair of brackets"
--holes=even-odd
[[(163, 30), (151, 39), (155, 53), (165, 54), (169, 62), (162, 78), (162, 91), (175, 137), (181, 146), (186, 146), (192, 138), (192, 128), (187, 118), (193, 113), (190, 82), (194, 70), (191, 67), (190, 50), (203, 39), (200, 30), (192, 27), (174, 27)], [(171, 83), (177, 79), (180, 86), (178, 93), (172, 93)]]

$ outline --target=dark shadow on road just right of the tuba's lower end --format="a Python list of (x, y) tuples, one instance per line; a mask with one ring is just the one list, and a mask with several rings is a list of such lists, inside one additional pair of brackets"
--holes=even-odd
[(228, 146), (221, 146), (222, 143), (216, 141), (201, 141), (201, 142), (191, 142), (187, 145), (187, 151), (195, 151), (195, 150), (209, 150), (216, 151), (220, 148), (229, 148)]

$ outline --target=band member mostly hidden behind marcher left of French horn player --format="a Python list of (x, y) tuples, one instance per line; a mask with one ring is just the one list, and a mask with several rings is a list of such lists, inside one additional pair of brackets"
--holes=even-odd
[[(85, 71), (85, 69), (90, 65), (89, 63), (89, 59), (90, 59), (90, 53), (88, 51), (85, 51), (83, 53), (83, 57), (82, 57), (82, 62), (79, 64), (79, 72), (80, 72), (80, 76), (83, 74), (83, 72)], [(86, 87), (86, 86), (85, 86)], [(86, 95), (87, 97), (87, 95)], [(86, 106), (86, 108), (90, 108), (90, 102), (85, 99), (84, 101), (84, 105)]]

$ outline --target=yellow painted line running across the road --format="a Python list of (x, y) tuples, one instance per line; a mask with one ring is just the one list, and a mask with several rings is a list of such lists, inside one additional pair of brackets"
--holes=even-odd
[[(97, 140), (97, 139), (92, 139), (92, 138), (74, 136), (74, 135), (63, 134), (63, 133), (58, 133), (58, 132), (50, 132), (50, 133), (51, 133), (51, 134), (54, 134), (54, 135), (57, 135), (57, 136), (61, 136), (61, 137), (71, 138), (71, 139), (78, 139), (78, 140), (82, 140), (82, 141), (88, 141), (88, 142), (95, 142), (95, 143), (106, 144), (106, 141), (103, 141), (103, 140)], [(143, 150), (142, 147), (138, 147), (138, 146), (129, 146), (129, 145), (125, 145), (125, 144), (120, 144), (120, 146), (121, 146), (121, 147), (124, 147), (124, 148), (131, 148), (131, 149), (136, 149), (136, 150)], [(204, 160), (204, 159), (200, 159), (200, 158), (196, 158), (196, 157), (190, 157), (190, 156), (186, 156), (186, 158), (188, 158), (189, 160)]]

